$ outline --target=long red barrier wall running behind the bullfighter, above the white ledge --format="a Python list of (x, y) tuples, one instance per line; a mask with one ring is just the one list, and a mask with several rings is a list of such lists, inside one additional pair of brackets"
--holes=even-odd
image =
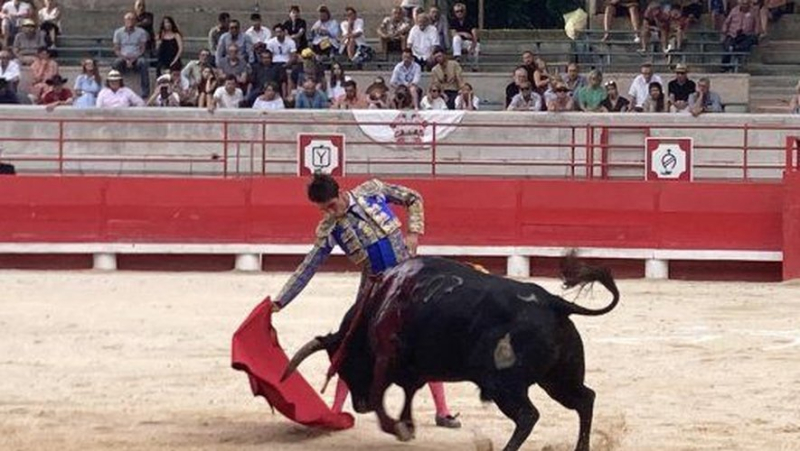
[[(777, 251), (787, 239), (784, 197), (800, 193), (796, 181), (395, 181), (425, 198), (424, 244), (446, 245)], [(3, 177), (0, 242), (309, 243), (319, 212), (306, 201), (305, 184), (297, 177)]]

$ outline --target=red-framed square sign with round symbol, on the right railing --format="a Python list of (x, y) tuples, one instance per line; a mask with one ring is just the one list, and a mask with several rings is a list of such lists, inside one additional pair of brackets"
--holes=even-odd
[(692, 181), (692, 138), (645, 138), (645, 180)]

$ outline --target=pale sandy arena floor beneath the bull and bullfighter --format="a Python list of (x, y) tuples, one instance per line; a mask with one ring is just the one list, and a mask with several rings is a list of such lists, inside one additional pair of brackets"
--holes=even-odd
[[(481, 436), (502, 448), (512, 423), (471, 384), (448, 385), (459, 431), (432, 425), (421, 391), (410, 444), (380, 433), (372, 415), (340, 433), (273, 415), (230, 368), (230, 339), (286, 277), (0, 272), (0, 450), (461, 451)], [(334, 328), (357, 284), (318, 275), (277, 319), (284, 346)], [(800, 285), (620, 289), (611, 314), (574, 317), (597, 391), (593, 449), (800, 450)], [(585, 302), (608, 299), (594, 295)], [(326, 363), (317, 355), (301, 369), (320, 387)], [(523, 449), (573, 449), (577, 415), (538, 388), (531, 396), (542, 417)]]

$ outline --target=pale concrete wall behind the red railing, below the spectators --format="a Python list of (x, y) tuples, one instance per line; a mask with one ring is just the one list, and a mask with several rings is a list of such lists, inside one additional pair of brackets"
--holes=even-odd
[[(220, 110), (209, 114), (196, 109), (59, 108), (47, 113), (42, 107), (0, 108), (2, 158), (16, 160), (14, 163), (23, 173), (57, 170), (59, 153), (65, 159), (64, 171), (69, 173), (213, 175), (223, 172), (225, 155), (229, 174), (294, 173), (295, 140), (300, 132), (345, 134), (351, 174), (430, 174), (432, 170), (432, 146), (412, 148), (376, 143), (347, 111), (291, 110), (262, 114), (250, 110)], [(637, 163), (643, 158), (646, 135), (692, 137), (696, 163), (728, 166), (697, 169), (698, 178), (741, 178), (740, 168), (745, 159), (742, 149), (747, 147), (747, 164), (762, 166), (751, 169), (748, 176), (778, 179), (785, 161), (785, 137), (800, 136), (800, 117), (467, 113), (455, 131), (446, 137), (439, 136), (435, 149), (439, 163), (436, 170), (438, 174), (566, 177), (572, 175), (568, 163), (574, 158), (578, 164), (575, 175), (581, 177), (585, 170), (580, 165), (587, 161), (589, 140), (596, 145), (592, 155), (595, 163), (601, 161), (600, 144), (604, 136), (609, 145), (608, 161)], [(263, 156), (266, 156), (266, 164)], [(51, 160), (20, 160), (42, 157)], [(172, 158), (194, 161), (163, 161)], [(383, 160), (400, 161), (400, 164), (379, 162)], [(502, 164), (487, 166), (468, 162)], [(612, 177), (641, 177), (642, 173), (636, 168), (612, 168), (610, 171)], [(598, 167), (595, 175), (599, 174)]]

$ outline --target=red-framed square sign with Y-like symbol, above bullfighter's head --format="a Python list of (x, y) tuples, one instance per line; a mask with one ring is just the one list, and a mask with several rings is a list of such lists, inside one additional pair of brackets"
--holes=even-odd
[(297, 175), (345, 175), (344, 135), (297, 134)]

